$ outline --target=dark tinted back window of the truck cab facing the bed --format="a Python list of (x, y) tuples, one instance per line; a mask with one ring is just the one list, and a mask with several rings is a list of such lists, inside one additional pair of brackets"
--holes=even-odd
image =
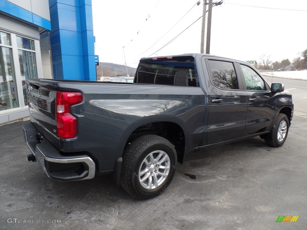
[(194, 69), (194, 60), (140, 63), (134, 81), (159, 85), (199, 86), (198, 77)]

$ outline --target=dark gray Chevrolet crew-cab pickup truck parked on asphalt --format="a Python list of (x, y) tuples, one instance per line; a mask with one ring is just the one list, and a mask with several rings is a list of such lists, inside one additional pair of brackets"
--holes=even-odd
[(133, 83), (26, 79), (25, 141), (52, 179), (110, 174), (149, 199), (198, 149), (260, 136), (284, 144), (292, 95), (250, 64), (205, 54), (142, 58)]

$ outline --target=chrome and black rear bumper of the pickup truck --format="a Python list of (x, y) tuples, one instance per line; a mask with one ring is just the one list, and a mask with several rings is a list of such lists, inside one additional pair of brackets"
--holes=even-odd
[(48, 177), (60, 180), (85, 180), (95, 176), (95, 163), (87, 155), (64, 156), (49, 142), (38, 143), (37, 131), (29, 122), (22, 125), (25, 141)]

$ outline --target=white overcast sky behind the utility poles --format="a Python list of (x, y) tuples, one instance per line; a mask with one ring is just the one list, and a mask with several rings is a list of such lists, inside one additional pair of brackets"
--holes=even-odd
[[(125, 52), (127, 65), (136, 67), (141, 57), (200, 53), (200, 2), (92, 0), (95, 55), (125, 64)], [(292, 62), (307, 49), (306, 24), (307, 0), (225, 0), (212, 9), (210, 54)]]

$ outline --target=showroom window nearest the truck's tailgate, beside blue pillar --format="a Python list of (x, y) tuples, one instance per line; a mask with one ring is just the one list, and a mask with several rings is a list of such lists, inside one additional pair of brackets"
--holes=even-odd
[(28, 105), (25, 78), (37, 78), (34, 40), (19, 36), (16, 36), (16, 40), (23, 96), (25, 105)]

